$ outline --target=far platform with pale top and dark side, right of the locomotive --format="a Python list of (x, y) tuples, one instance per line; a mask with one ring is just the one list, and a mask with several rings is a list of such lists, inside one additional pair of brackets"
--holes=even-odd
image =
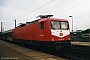
[(73, 50), (88, 52), (90, 55), (90, 42), (71, 42), (71, 44)]

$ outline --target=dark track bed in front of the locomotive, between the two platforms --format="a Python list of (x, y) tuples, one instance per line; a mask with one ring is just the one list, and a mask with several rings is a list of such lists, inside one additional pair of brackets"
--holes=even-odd
[[(83, 47), (84, 48), (84, 47)], [(43, 51), (42, 51), (43, 52)], [(45, 53), (66, 58), (68, 60), (90, 60), (90, 47), (82, 49), (80, 47), (72, 46), (69, 51), (44, 51)], [(64, 52), (64, 53), (63, 53)]]

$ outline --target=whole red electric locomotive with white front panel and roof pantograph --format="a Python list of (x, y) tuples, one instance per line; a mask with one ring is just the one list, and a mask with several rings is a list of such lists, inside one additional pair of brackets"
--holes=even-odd
[(20, 24), (13, 31), (13, 41), (39, 47), (60, 49), (71, 45), (69, 22), (66, 19), (39, 15), (40, 19)]

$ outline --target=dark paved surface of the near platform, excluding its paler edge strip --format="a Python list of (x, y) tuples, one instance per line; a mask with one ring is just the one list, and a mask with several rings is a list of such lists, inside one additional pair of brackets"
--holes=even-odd
[(0, 60), (26, 60), (29, 57), (7, 46), (0, 40)]

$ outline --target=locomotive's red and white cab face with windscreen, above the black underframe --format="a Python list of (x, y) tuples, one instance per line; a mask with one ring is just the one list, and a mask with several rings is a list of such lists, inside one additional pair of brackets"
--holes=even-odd
[(70, 40), (69, 23), (67, 21), (51, 21), (52, 41)]

